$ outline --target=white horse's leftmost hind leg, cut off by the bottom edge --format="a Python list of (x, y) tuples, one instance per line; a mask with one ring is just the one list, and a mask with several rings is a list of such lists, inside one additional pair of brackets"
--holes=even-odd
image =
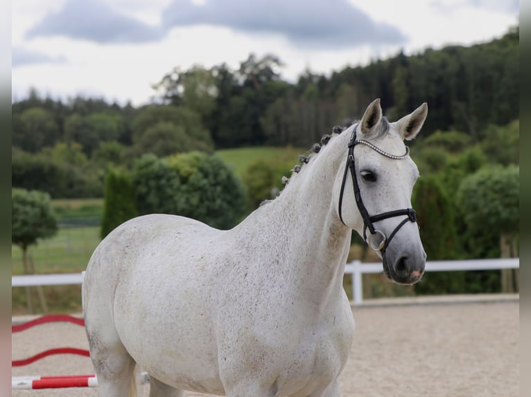
[(98, 379), (98, 396), (134, 396), (133, 371), (136, 363), (121, 344), (116, 331), (105, 331), (87, 329), (90, 358)]

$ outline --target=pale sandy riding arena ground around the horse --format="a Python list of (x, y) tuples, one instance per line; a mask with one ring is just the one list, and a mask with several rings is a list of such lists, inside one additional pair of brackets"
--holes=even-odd
[[(354, 307), (356, 334), (341, 376), (342, 396), (519, 396), (517, 299), (456, 302), (446, 297), (424, 304), (394, 299)], [(88, 349), (85, 330), (55, 323), (12, 335), (14, 360), (54, 347)], [(71, 355), (12, 368), (12, 376), (89, 373), (94, 373), (90, 359)], [(96, 388), (12, 391), (15, 397), (97, 395)], [(148, 396), (147, 386), (139, 387), (139, 396)]]

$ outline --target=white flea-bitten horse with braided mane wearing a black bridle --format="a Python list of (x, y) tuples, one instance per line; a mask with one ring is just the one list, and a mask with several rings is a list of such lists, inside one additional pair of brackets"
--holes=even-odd
[(82, 291), (99, 395), (128, 395), (139, 364), (150, 397), (340, 396), (354, 336), (342, 288), (351, 230), (368, 229), (390, 279), (424, 273), (410, 209), (419, 173), (403, 140), (427, 109), (390, 123), (375, 100), (231, 230), (153, 214), (110, 233)]

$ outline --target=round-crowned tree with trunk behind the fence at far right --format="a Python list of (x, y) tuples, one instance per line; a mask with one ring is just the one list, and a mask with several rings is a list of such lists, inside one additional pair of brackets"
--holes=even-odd
[[(458, 190), (464, 223), (471, 233), (498, 235), (503, 256), (515, 257), (519, 236), (519, 167), (484, 167)], [(502, 290), (514, 290), (512, 271), (502, 272)]]

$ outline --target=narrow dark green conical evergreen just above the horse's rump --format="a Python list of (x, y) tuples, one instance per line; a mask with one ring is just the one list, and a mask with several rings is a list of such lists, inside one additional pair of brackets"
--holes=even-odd
[(101, 220), (101, 238), (123, 222), (138, 215), (131, 178), (125, 172), (111, 169), (105, 178), (105, 203)]

